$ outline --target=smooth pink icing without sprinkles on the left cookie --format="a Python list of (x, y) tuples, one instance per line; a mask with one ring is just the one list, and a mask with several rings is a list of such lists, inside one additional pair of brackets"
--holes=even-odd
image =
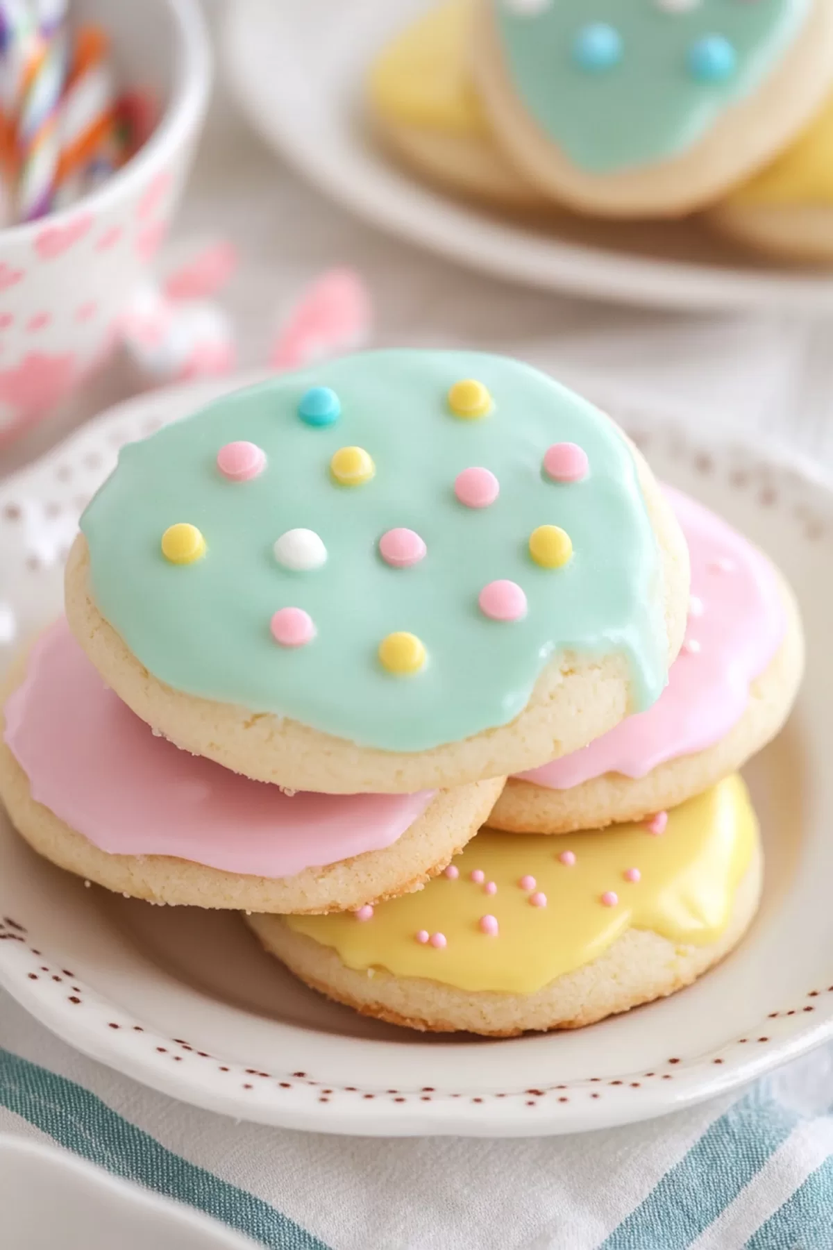
[(104, 686), (62, 620), (32, 648), (5, 715), (32, 796), (111, 855), (293, 876), (391, 846), (433, 798), (288, 796), (180, 751)]

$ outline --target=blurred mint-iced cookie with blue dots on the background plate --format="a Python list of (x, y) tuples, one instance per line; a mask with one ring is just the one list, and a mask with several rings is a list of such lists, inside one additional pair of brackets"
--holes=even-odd
[(789, 144), (833, 80), (827, 0), (480, 0), (473, 36), (507, 156), (601, 216), (704, 208)]

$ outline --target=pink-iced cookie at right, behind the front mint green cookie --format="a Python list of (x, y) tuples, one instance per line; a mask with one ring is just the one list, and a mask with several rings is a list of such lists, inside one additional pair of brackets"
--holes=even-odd
[(739, 769), (783, 725), (803, 669), (792, 591), (724, 520), (664, 488), (688, 542), (687, 639), (648, 711), (511, 778), (495, 829), (566, 834), (642, 820)]

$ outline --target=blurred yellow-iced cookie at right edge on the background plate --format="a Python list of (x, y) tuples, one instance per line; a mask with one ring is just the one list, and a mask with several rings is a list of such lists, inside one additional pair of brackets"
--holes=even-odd
[(768, 256), (833, 262), (833, 96), (787, 151), (706, 220)]

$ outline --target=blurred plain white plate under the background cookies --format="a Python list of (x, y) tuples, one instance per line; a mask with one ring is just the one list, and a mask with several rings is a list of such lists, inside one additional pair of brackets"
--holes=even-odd
[(235, 0), (221, 49), (251, 124), (312, 182), (393, 234), (532, 286), (676, 309), (833, 309), (833, 275), (757, 262), (691, 222), (528, 225), (453, 200), (377, 150), (362, 119), (375, 51), (432, 0)]

